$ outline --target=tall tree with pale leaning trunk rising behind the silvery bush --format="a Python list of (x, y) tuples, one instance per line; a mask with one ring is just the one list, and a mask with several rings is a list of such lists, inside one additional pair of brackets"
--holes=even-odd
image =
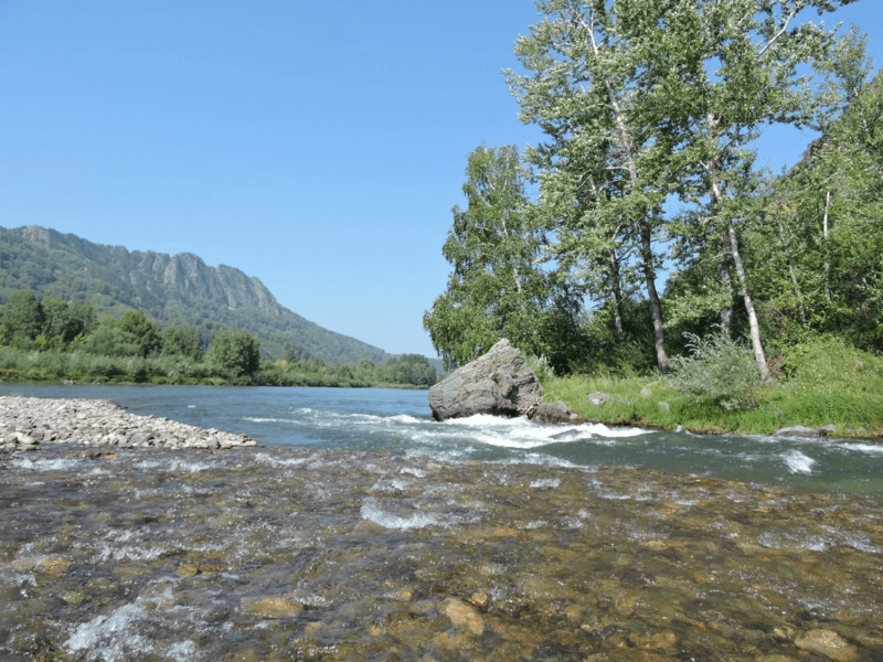
[[(647, 32), (641, 76), (657, 126), (668, 125), (678, 192), (699, 206), (680, 226), (682, 260), (716, 256), (723, 289), (735, 281), (748, 318), (755, 360), (763, 381), (769, 370), (751, 293), (747, 268), (740, 253), (744, 201), (756, 190), (754, 152), (748, 146), (763, 125), (820, 126), (840, 100), (830, 86), (813, 89), (807, 65), (822, 63), (834, 77), (853, 81), (861, 40), (848, 35), (838, 50), (833, 31), (812, 22), (792, 26), (798, 13), (815, 8), (832, 11), (852, 0), (671, 0), (656, 29)], [(833, 63), (833, 64), (832, 64)], [(859, 67), (861, 68), (861, 67)], [(696, 250), (696, 246), (699, 250)], [(721, 311), (726, 334), (731, 308)]]

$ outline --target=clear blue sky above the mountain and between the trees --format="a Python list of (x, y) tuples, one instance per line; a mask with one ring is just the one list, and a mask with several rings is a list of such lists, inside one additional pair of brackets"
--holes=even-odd
[[(190, 252), (389, 352), (422, 317), (481, 141), (535, 143), (500, 73), (531, 0), (0, 0), (0, 225)], [(883, 57), (883, 1), (840, 10)], [(809, 136), (777, 130), (760, 160)]]

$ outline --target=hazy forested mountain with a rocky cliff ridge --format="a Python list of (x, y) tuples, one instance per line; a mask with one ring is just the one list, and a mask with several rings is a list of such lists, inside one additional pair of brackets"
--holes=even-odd
[(327, 363), (389, 357), (279, 305), (257, 278), (226, 265), (210, 267), (190, 253), (130, 252), (40, 226), (0, 227), (0, 301), (22, 289), (87, 300), (99, 316), (139, 308), (163, 325), (196, 327), (206, 341), (220, 324), (246, 329), (273, 357), (287, 350)]

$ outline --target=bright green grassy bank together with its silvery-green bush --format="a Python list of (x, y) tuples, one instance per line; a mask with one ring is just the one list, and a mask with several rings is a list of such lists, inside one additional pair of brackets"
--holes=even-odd
[(883, 438), (879, 356), (829, 337), (791, 346), (772, 363), (773, 382), (764, 386), (747, 348), (715, 339), (694, 344), (669, 377), (545, 373), (543, 387), (547, 399), (608, 425), (747, 435), (832, 425), (825, 430), (832, 436)]

